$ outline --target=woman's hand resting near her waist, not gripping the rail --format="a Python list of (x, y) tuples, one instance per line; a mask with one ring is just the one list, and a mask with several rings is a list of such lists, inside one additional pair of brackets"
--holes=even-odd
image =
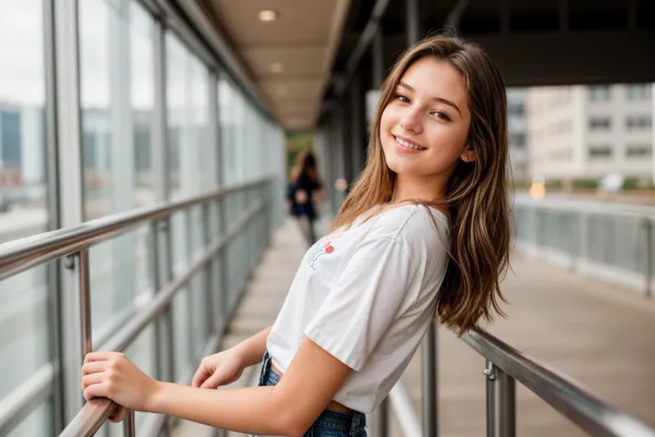
[(206, 356), (193, 376), (194, 387), (215, 389), (231, 384), (243, 373), (244, 365), (238, 352), (233, 349)]

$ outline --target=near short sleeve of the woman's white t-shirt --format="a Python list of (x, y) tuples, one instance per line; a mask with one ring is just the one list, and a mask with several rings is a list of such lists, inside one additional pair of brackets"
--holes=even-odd
[(397, 239), (364, 239), (355, 249), (304, 335), (353, 370), (399, 315), (416, 265)]

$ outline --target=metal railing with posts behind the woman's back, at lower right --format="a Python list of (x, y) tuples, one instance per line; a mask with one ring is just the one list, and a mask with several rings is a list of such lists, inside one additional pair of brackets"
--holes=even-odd
[[(487, 367), (483, 373), (487, 376), (488, 437), (515, 437), (516, 435), (515, 381), (546, 401), (586, 433), (599, 437), (655, 437), (655, 425), (646, 423), (603, 401), (596, 394), (581, 388), (582, 385), (570, 376), (539, 364), (537, 360), (517, 351), (496, 336), (481, 330), (471, 330), (462, 336), (462, 340), (487, 360)], [(425, 352), (436, 350), (435, 341), (425, 342), (424, 346), (425, 350), (428, 350)], [(437, 372), (436, 366), (424, 370), (434, 374)], [(436, 391), (427, 390), (426, 385), (424, 380), (424, 406), (436, 405)], [(429, 395), (426, 396), (425, 393)], [(396, 405), (403, 401), (400, 399), (400, 394), (402, 390), (395, 390), (389, 396), (390, 404), (397, 414), (404, 411), (396, 408)], [(434, 399), (426, 399), (431, 396)], [(383, 415), (380, 420), (388, 421), (387, 415), (385, 413)], [(411, 432), (421, 427), (416, 417), (399, 417), (399, 419), (401, 427), (406, 431)], [(382, 429), (385, 430), (385, 427), (383, 426)], [(428, 430), (426, 426), (423, 427), (422, 434), (425, 437), (439, 435), (438, 430)], [(378, 435), (386, 437), (385, 432)], [(414, 436), (416, 432), (410, 435)]]

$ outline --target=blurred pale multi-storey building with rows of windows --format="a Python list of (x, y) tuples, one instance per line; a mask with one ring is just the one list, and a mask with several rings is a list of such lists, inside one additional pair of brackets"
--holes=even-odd
[(651, 84), (530, 88), (530, 176), (598, 181), (609, 174), (651, 181)]

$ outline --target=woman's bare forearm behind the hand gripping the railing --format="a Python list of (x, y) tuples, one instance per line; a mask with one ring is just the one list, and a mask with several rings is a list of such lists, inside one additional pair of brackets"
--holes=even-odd
[(302, 435), (296, 433), (274, 386), (206, 390), (160, 383), (149, 411), (181, 417), (238, 433)]

